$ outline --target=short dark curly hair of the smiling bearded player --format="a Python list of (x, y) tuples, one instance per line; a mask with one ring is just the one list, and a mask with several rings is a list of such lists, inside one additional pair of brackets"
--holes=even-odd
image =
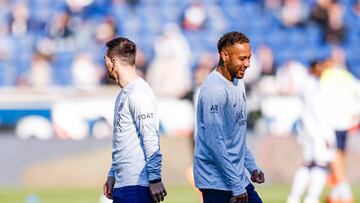
[(235, 43), (250, 43), (249, 38), (241, 32), (228, 32), (224, 34), (218, 41), (218, 52), (220, 53), (227, 46), (234, 45)]

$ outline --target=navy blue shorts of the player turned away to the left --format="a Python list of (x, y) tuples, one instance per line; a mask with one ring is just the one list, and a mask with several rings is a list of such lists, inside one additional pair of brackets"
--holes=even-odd
[(153, 203), (149, 187), (126, 186), (114, 188), (113, 203)]

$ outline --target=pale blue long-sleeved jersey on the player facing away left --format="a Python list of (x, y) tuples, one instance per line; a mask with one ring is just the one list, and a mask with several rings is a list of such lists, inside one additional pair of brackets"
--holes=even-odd
[(159, 119), (150, 86), (137, 78), (124, 87), (115, 102), (112, 165), (115, 188), (141, 185), (161, 178)]

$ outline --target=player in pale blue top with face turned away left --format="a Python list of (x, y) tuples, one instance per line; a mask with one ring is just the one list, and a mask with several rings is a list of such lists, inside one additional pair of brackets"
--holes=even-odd
[(137, 75), (136, 45), (127, 38), (106, 43), (109, 77), (122, 88), (114, 109), (112, 165), (103, 192), (114, 203), (164, 200), (159, 119), (150, 86)]

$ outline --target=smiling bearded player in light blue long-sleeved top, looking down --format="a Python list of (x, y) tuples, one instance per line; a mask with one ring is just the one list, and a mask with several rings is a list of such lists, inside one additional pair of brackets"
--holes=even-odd
[(204, 203), (261, 203), (250, 183), (264, 174), (246, 146), (245, 70), (250, 66), (249, 39), (229, 32), (218, 42), (218, 66), (204, 81), (197, 106), (194, 154), (195, 186)]

